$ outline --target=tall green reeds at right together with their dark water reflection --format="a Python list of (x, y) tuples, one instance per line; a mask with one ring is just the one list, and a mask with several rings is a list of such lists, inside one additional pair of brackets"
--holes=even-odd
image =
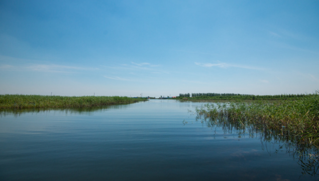
[(318, 91), (297, 100), (211, 103), (196, 111), (197, 120), (208, 127), (236, 132), (238, 138), (258, 136), (263, 149), (272, 140), (279, 143), (275, 153), (286, 149), (299, 160), (303, 175), (319, 175)]

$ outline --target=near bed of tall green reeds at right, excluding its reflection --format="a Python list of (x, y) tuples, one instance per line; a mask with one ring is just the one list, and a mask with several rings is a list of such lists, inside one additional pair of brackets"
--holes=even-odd
[[(319, 146), (319, 92), (276, 102), (207, 104), (197, 114), (216, 124), (274, 132), (299, 143)], [(218, 122), (218, 123), (217, 123)]]

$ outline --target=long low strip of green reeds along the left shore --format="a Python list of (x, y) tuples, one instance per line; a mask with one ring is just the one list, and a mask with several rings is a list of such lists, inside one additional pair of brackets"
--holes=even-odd
[(49, 96), (49, 95), (0, 95), (0, 108), (58, 108), (91, 107), (126, 104), (146, 100), (120, 96)]

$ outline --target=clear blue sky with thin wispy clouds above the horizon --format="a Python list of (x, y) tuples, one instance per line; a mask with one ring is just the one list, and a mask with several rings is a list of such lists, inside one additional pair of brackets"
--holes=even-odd
[(319, 0), (0, 0), (0, 94), (319, 90)]

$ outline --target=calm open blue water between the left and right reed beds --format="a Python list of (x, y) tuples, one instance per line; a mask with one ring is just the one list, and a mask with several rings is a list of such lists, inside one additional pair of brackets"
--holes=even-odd
[(319, 181), (284, 143), (196, 121), (202, 104), (2, 112), (0, 180)]

